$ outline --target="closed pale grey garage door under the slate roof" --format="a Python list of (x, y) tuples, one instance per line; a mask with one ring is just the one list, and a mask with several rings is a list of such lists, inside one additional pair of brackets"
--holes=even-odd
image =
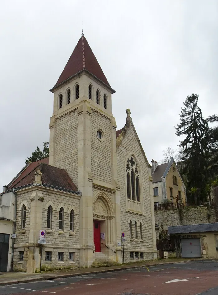
[(200, 239), (180, 239), (182, 257), (201, 257)]

